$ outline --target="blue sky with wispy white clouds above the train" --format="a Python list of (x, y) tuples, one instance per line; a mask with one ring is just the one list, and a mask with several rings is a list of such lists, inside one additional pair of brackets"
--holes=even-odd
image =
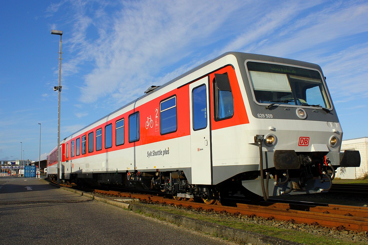
[(0, 160), (57, 145), (52, 29), (61, 139), (228, 51), (319, 64), (343, 139), (368, 136), (367, 0), (2, 0), (0, 26)]

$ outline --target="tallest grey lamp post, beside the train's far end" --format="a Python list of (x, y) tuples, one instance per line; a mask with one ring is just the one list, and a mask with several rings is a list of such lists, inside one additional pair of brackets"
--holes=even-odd
[(51, 30), (51, 34), (60, 35), (60, 43), (59, 43), (59, 86), (54, 87), (54, 91), (59, 90), (58, 117), (57, 117), (57, 185), (60, 187), (60, 160), (61, 160), (61, 150), (60, 150), (61, 35), (63, 35), (63, 31)]

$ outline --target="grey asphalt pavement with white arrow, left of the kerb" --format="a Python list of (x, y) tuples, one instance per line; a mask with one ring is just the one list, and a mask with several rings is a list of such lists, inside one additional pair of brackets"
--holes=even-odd
[(0, 244), (233, 244), (64, 191), (43, 179), (0, 177)]

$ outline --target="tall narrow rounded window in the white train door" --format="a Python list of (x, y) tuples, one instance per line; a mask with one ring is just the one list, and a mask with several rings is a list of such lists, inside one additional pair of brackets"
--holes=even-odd
[(205, 84), (192, 90), (192, 100), (193, 129), (204, 129), (207, 127), (207, 93)]

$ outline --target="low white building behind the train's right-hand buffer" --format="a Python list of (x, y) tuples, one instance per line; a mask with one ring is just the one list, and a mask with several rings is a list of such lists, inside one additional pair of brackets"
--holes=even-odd
[(359, 150), (360, 167), (337, 168), (336, 177), (341, 179), (357, 179), (368, 172), (368, 137), (347, 139), (342, 141), (341, 151)]

